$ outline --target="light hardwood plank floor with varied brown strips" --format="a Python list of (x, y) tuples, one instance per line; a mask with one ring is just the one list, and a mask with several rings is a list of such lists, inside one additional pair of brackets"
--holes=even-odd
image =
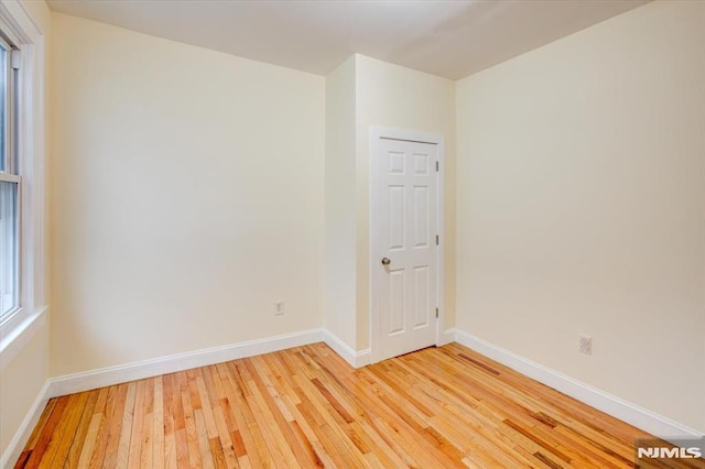
[(620, 468), (638, 437), (456, 343), (360, 370), (316, 343), (53, 399), (15, 467)]

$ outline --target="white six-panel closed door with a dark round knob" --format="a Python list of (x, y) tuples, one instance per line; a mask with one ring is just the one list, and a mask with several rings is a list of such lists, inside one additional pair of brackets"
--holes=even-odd
[(436, 343), (438, 145), (380, 138), (372, 154), (373, 359)]

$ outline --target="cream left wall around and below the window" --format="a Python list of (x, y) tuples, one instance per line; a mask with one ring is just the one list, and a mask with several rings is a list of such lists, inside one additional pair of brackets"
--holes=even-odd
[[(50, 79), (48, 53), (51, 43), (51, 12), (46, 3), (41, 1), (23, 1), (22, 6), (42, 33), (44, 52), (44, 77), (37, 84), (42, 89), (36, 96), (47, 98), (45, 84)], [(35, 53), (37, 51), (35, 50)], [(35, 106), (36, 109), (36, 106)], [(44, 111), (47, 102), (44, 102)], [(42, 135), (46, 137), (46, 135)], [(41, 139), (41, 138), (40, 138)], [(47, 146), (46, 143), (44, 146)], [(44, 162), (41, 152), (44, 149), (34, 149), (34, 157), (41, 167)], [(41, 242), (41, 240), (37, 240)], [(36, 277), (46, 276), (44, 272), (35, 272)], [(45, 293), (39, 288), (34, 291), (34, 304), (40, 307), (47, 301)], [(48, 317), (50, 313), (44, 313)], [(6, 456), (8, 445), (21, 430), (24, 418), (31, 411), (32, 404), (37, 399), (46, 379), (48, 378), (48, 321), (37, 320), (31, 330), (25, 330), (25, 336), (10, 346), (12, 358), (6, 362), (0, 372), (0, 455)], [(19, 348), (18, 348), (19, 347)], [(6, 353), (10, 350), (6, 349)], [(14, 461), (12, 461), (14, 462)]]

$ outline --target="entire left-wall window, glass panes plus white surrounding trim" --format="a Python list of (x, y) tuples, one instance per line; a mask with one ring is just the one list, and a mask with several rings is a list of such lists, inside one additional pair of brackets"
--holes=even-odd
[(0, 0), (0, 370), (46, 325), (44, 42)]

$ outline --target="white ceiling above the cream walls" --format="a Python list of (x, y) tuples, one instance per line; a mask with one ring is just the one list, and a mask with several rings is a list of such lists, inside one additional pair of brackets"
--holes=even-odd
[(52, 10), (327, 75), (354, 53), (452, 79), (647, 0), (48, 0)]

